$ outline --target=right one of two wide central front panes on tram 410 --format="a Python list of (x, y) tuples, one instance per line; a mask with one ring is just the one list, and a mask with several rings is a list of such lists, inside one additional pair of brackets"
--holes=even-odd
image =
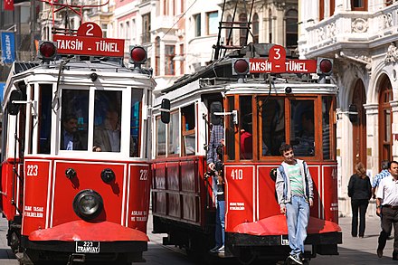
[(291, 100), (290, 108), (290, 144), (295, 156), (315, 156), (314, 100)]

